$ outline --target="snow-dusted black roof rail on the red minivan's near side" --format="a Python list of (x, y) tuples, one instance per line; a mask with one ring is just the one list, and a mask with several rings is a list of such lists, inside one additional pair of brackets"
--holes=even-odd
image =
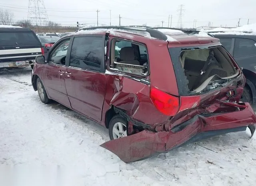
[[(80, 28), (79, 30), (94, 30), (94, 29), (122, 29), (122, 30), (132, 30), (132, 31), (141, 31), (141, 32), (148, 32), (150, 34), (150, 36), (152, 38), (156, 38), (159, 40), (167, 40), (167, 36), (156, 30), (156, 29), (152, 29), (152, 28), (138, 28), (138, 27), (133, 27), (133, 26), (96, 26), (96, 27), (84, 27), (84, 28)], [(77, 32), (77, 31), (76, 31)]]

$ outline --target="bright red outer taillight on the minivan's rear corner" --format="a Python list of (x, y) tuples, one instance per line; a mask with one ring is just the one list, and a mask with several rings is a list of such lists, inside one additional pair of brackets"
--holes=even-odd
[(150, 87), (150, 98), (155, 107), (164, 115), (174, 116), (180, 107), (180, 98)]

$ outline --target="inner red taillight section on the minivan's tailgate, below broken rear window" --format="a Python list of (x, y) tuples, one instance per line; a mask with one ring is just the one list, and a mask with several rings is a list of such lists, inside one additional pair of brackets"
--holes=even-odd
[(200, 100), (200, 96), (181, 96), (179, 112), (197, 107), (200, 103)]

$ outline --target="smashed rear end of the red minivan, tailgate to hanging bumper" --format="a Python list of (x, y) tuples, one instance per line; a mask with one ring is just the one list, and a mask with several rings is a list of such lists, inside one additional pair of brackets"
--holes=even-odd
[[(247, 127), (253, 136), (255, 113), (249, 103), (239, 102), (245, 78), (224, 47), (210, 42), (196, 46), (170, 42), (166, 51), (178, 96), (149, 86), (152, 104), (168, 119), (150, 129), (108, 141), (102, 147), (124, 162), (133, 162), (206, 137), (245, 131)], [(168, 81), (166, 86), (176, 88)]]

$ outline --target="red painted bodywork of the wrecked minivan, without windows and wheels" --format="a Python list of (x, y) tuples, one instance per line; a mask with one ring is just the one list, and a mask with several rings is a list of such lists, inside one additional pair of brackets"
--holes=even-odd
[[(106, 32), (98, 34), (105, 35)], [(113, 106), (124, 110), (130, 118), (150, 125), (152, 131), (144, 130), (102, 144), (124, 162), (140, 160), (155, 152), (166, 152), (202, 132), (253, 126), (256, 123), (256, 116), (249, 104), (231, 103), (239, 101), (242, 95), (244, 76), (239, 80), (241, 84), (238, 87), (234, 83), (200, 96), (185, 97), (178, 94), (179, 79), (176, 79), (168, 47), (220, 44), (218, 39), (182, 35), (173, 36), (176, 39), (174, 42), (167, 42), (136, 34), (115, 34), (111, 31), (105, 58), (108, 71), (111, 71), (108, 66), (109, 48), (115, 35), (146, 46), (150, 74), (144, 78), (150, 81), (150, 85), (118, 73), (109, 74), (50, 64), (37, 63), (32, 75), (37, 75), (42, 80), (50, 99), (90, 117), (101, 125), (108, 124), (106, 113)], [(233, 59), (232, 62), (237, 67)], [(231, 98), (227, 96), (230, 91)], [(227, 103), (227, 100), (230, 102)], [(206, 117), (203, 115), (205, 113), (214, 115)], [(194, 120), (184, 129), (176, 133), (171, 131), (189, 119)], [(129, 122), (128, 125), (129, 133), (134, 133), (132, 123)]]

